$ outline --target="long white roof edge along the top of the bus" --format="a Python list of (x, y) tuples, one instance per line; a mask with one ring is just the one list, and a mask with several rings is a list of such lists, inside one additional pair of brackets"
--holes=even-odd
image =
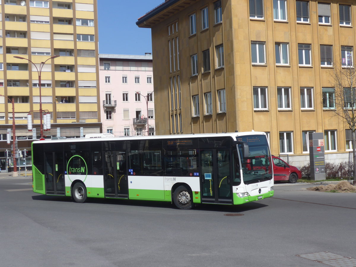
[[(33, 143), (67, 143), (67, 142), (95, 142), (95, 141), (112, 141), (112, 140), (146, 140), (146, 139), (183, 139), (183, 138), (199, 138), (199, 137), (221, 137), (221, 136), (245, 136), (245, 135), (266, 135), (265, 132), (222, 132), (222, 133), (188, 133), (182, 135), (153, 135), (153, 136), (142, 136), (142, 135), (133, 135), (133, 136), (113, 136), (113, 137), (95, 137), (95, 138), (67, 138), (67, 139), (48, 139), (42, 141), (33, 141)], [(96, 136), (99, 136), (97, 134)]]

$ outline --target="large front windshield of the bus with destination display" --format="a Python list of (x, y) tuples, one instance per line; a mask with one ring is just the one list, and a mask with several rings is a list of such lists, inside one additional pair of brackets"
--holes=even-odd
[(272, 179), (272, 159), (269, 153), (265, 135), (237, 136), (237, 141), (248, 144), (249, 156), (243, 157), (241, 145), (239, 148), (242, 168), (242, 180), (245, 184), (258, 183)]

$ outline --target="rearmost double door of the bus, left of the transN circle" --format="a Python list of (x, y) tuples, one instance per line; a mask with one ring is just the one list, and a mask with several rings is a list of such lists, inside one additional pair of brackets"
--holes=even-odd
[(65, 194), (63, 152), (45, 153), (45, 184), (46, 194)]

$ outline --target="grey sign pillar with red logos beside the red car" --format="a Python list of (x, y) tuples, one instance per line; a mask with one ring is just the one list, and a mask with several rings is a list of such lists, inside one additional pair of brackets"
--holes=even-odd
[(309, 133), (310, 180), (325, 180), (324, 133)]

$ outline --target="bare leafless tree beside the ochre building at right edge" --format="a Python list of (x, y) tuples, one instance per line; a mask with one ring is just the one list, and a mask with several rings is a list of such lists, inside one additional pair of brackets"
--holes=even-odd
[(334, 116), (341, 118), (345, 128), (347, 126), (350, 127), (350, 133), (352, 133), (354, 184), (356, 184), (356, 68), (352, 66), (351, 54), (345, 54), (341, 66), (334, 64), (330, 76), (331, 83), (335, 88), (335, 93), (333, 97), (332, 94), (323, 92), (323, 107), (330, 107), (330, 105), (332, 105), (330, 102), (334, 101), (334, 109), (332, 109)]

